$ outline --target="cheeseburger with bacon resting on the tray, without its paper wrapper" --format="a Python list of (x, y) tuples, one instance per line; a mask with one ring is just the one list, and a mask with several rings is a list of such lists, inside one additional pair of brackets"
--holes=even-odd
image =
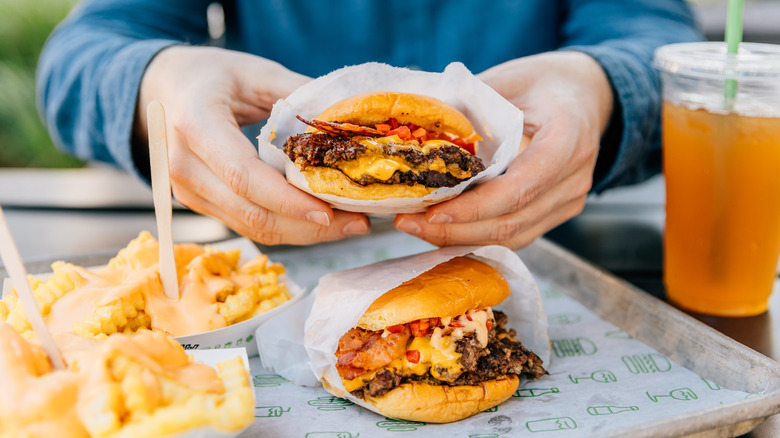
[(384, 415), (433, 423), (496, 406), (518, 376), (538, 378), (528, 351), (495, 306), (510, 294), (493, 267), (468, 257), (442, 263), (374, 301), (341, 337), (336, 369), (352, 395)]

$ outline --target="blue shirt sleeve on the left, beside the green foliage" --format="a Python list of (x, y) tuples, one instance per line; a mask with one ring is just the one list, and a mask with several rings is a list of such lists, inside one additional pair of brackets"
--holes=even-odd
[(103, 0), (74, 9), (38, 63), (37, 103), (55, 144), (138, 175), (131, 141), (143, 72), (160, 50), (208, 39), (209, 3)]

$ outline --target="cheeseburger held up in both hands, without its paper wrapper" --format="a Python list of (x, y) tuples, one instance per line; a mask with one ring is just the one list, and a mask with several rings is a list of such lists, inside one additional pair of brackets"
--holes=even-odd
[(327, 108), (284, 152), (316, 193), (352, 199), (422, 197), (485, 170), (480, 136), (463, 113), (432, 97), (390, 91)]

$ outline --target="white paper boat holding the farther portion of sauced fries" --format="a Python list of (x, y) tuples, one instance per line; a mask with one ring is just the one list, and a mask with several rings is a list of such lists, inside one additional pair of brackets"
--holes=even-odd
[[(252, 243), (251, 240), (245, 238), (225, 240), (219, 243), (211, 245), (214, 248), (221, 250), (240, 249), (241, 259), (239, 263), (245, 263), (249, 260), (260, 255), (260, 251)], [(270, 261), (273, 261), (271, 259)], [(101, 266), (87, 267), (87, 269), (98, 269)], [(51, 276), (51, 273), (36, 274), (34, 277), (46, 280)], [(186, 350), (211, 350), (221, 348), (246, 348), (249, 356), (257, 355), (257, 343), (254, 341), (255, 329), (266, 321), (268, 318), (273, 317), (277, 313), (284, 311), (284, 309), (292, 306), (303, 295), (304, 290), (298, 286), (294, 281), (290, 279), (286, 274), (279, 276), (279, 280), (287, 286), (288, 292), (290, 292), (291, 298), (289, 301), (282, 303), (281, 305), (269, 310), (268, 312), (255, 316), (254, 318), (241, 321), (237, 324), (229, 325), (227, 327), (212, 330), (205, 333), (198, 333), (195, 335), (179, 336), (176, 339)], [(10, 291), (9, 282), (3, 283), (3, 295), (7, 290)], [(2, 297), (0, 297), (2, 298)]]

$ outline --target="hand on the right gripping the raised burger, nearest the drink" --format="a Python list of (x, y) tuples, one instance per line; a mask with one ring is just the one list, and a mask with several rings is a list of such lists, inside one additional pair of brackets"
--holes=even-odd
[(479, 75), (523, 110), (531, 137), (503, 175), (395, 226), (435, 245), (526, 246), (579, 214), (612, 113), (601, 66), (579, 52), (515, 59)]

